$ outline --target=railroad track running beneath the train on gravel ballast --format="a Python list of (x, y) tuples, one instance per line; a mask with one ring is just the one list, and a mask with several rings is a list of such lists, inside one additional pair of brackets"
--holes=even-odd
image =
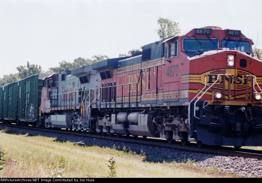
[(244, 149), (244, 148), (234, 148), (234, 147), (227, 147), (227, 146), (203, 146), (198, 147), (196, 143), (189, 143), (188, 145), (184, 146), (181, 145), (179, 141), (174, 141), (172, 143), (168, 143), (167, 140), (161, 138), (151, 138), (151, 137), (134, 137), (134, 136), (126, 136), (122, 135), (117, 137), (116, 135), (109, 136), (108, 134), (101, 135), (99, 133), (95, 134), (88, 134), (80, 133), (79, 131), (70, 131), (70, 130), (50, 130), (50, 129), (41, 129), (37, 127), (23, 127), (17, 125), (6, 125), (0, 123), (1, 126), (6, 126), (9, 128), (16, 127), (21, 129), (30, 129), (36, 131), (46, 131), (52, 133), (60, 133), (60, 134), (68, 134), (68, 135), (77, 135), (83, 137), (91, 137), (91, 138), (102, 138), (106, 140), (113, 140), (113, 141), (122, 141), (122, 142), (129, 142), (129, 143), (139, 143), (144, 145), (150, 146), (160, 146), (160, 147), (168, 147), (168, 148), (175, 148), (175, 149), (182, 149), (186, 151), (193, 151), (193, 152), (201, 152), (201, 153), (210, 153), (210, 154), (217, 154), (223, 156), (236, 156), (236, 157), (243, 157), (243, 158), (253, 158), (262, 160), (262, 151), (253, 150), (253, 149)]

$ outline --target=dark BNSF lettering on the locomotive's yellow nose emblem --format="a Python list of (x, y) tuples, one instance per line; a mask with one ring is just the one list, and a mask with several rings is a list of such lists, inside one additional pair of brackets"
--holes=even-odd
[[(237, 75), (234, 77), (234, 75), (227, 76), (225, 75), (225, 80), (229, 82), (229, 78), (235, 78), (230, 79), (230, 84), (237, 84), (237, 85), (246, 85), (246, 80), (244, 79), (245, 75)], [(208, 74), (208, 82), (207, 83), (214, 83), (217, 80), (217, 74)], [(223, 84), (223, 78), (222, 76), (219, 76), (219, 80), (217, 81), (217, 84)]]

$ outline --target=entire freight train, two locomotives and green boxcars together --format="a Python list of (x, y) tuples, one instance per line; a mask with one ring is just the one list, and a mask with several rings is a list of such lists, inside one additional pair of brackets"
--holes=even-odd
[(262, 62), (252, 45), (240, 30), (193, 29), (131, 57), (3, 86), (0, 115), (5, 123), (183, 145), (261, 146)]

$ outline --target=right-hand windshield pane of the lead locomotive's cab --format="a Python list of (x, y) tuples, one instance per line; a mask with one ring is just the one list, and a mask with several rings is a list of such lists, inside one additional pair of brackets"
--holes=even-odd
[(250, 51), (250, 44), (248, 41), (240, 41), (240, 40), (229, 40), (229, 39), (222, 39), (221, 40), (222, 48), (229, 48), (229, 49), (236, 49), (238, 51)]

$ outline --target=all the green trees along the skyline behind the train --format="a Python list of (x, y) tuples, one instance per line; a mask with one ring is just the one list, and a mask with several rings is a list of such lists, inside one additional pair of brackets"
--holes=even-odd
[[(163, 19), (159, 18), (157, 20), (157, 24), (159, 24), (159, 29), (157, 30), (157, 34), (159, 35), (160, 40), (165, 39), (167, 37), (176, 35), (180, 33), (179, 29), (179, 23), (176, 23), (175, 21), (169, 20), (169, 19)], [(133, 49), (130, 50), (127, 54), (119, 54), (119, 57), (128, 57), (131, 56), (132, 51), (140, 51), (139, 49)], [(262, 49), (254, 48), (253, 50), (254, 56), (262, 59)], [(17, 74), (7, 74), (4, 75), (3, 78), (0, 78), (0, 86), (6, 85), (8, 83), (12, 83), (15, 81), (18, 81), (20, 79), (23, 79), (25, 77), (37, 74), (37, 73), (58, 73), (64, 70), (72, 70), (76, 69), (85, 65), (91, 65), (92, 63), (99, 62), (101, 60), (108, 59), (109, 57), (106, 55), (95, 55), (92, 57), (92, 59), (84, 59), (84, 58), (77, 58), (74, 59), (72, 63), (66, 62), (63, 60), (62, 62), (59, 62), (59, 67), (51, 67), (48, 69), (48, 71), (43, 71), (40, 65), (30, 64), (27, 62), (26, 66), (18, 66), (16, 69), (18, 70)]]

